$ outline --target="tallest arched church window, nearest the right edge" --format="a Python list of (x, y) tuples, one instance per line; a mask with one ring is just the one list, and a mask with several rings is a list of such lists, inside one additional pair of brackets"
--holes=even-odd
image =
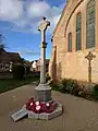
[(95, 23), (96, 23), (95, 5), (96, 5), (95, 0), (90, 0), (87, 3), (86, 48), (95, 47)]

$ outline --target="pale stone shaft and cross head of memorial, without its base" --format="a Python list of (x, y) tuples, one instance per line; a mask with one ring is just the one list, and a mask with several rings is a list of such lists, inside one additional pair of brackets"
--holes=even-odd
[(50, 22), (46, 21), (46, 17), (42, 17), (41, 23), (38, 26), (38, 31), (41, 33), (40, 84), (46, 83), (46, 48), (47, 48), (46, 29), (48, 26), (50, 26)]

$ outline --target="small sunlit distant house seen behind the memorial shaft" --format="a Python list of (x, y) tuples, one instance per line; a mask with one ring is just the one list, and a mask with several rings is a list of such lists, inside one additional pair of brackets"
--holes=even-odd
[[(46, 72), (48, 72), (49, 69), (49, 59), (46, 59)], [(40, 71), (40, 59), (32, 61), (32, 68), (30, 71)]]

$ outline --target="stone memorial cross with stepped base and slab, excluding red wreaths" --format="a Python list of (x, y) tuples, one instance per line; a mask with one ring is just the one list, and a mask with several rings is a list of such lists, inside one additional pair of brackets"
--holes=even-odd
[(34, 111), (29, 111), (26, 109), (26, 105), (16, 112), (14, 112), (11, 117), (14, 121), (22, 119), (23, 117), (28, 116), (28, 118), (33, 119), (52, 119), (62, 114), (62, 105), (60, 103), (53, 102), (51, 97), (51, 87), (48, 83), (46, 83), (46, 29), (50, 25), (50, 22), (46, 21), (46, 17), (42, 19), (40, 26), (38, 26), (38, 31), (41, 33), (41, 60), (40, 60), (40, 83), (35, 87), (35, 102), (40, 102), (41, 104), (50, 104), (52, 103), (52, 109), (54, 110), (51, 114), (35, 114)]

